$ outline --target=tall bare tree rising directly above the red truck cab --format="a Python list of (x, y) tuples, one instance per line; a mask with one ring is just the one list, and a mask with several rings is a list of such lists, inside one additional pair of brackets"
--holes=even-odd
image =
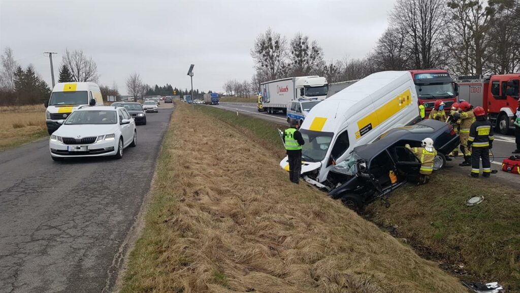
[(444, 0), (397, 0), (391, 26), (406, 36), (414, 69), (432, 68), (443, 61)]

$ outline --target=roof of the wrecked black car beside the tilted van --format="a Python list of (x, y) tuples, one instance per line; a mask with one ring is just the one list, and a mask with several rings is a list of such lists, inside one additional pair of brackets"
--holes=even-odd
[(435, 138), (442, 133), (442, 131), (439, 130), (446, 126), (447, 124), (444, 122), (434, 119), (425, 119), (412, 126), (393, 128), (383, 133), (372, 143), (356, 146), (354, 152), (360, 157), (368, 159), (378, 155), (400, 140), (421, 141), (424, 139), (425, 133), (431, 133), (429, 137), (435, 141)]

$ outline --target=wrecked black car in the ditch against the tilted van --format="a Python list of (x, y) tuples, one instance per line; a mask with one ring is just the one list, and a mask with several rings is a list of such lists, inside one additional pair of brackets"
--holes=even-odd
[(374, 142), (354, 148), (347, 161), (331, 169), (328, 179), (336, 188), (329, 196), (356, 211), (378, 198), (388, 204), (386, 197), (390, 192), (419, 176), (421, 162), (406, 144), (412, 148), (421, 146), (421, 141), (428, 137), (437, 150), (434, 169), (443, 168), (446, 156), (459, 145), (459, 135), (449, 124), (426, 119), (413, 126), (391, 129)]

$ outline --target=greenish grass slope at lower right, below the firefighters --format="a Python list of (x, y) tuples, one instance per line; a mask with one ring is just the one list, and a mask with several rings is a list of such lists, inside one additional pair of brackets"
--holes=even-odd
[[(476, 206), (465, 201), (475, 195)], [(471, 179), (454, 170), (435, 173), (425, 186), (405, 186), (367, 212), (380, 225), (398, 226), (399, 237), (430, 248), (440, 261), (463, 264), (480, 281), (498, 281), (520, 291), (520, 193), (492, 179)], [(462, 277), (465, 278), (465, 277)]]

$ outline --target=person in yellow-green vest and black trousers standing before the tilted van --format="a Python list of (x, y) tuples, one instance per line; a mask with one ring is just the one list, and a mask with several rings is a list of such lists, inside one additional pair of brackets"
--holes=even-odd
[(305, 144), (302, 133), (297, 129), (298, 127), (298, 121), (291, 120), (291, 127), (283, 131), (283, 143), (289, 159), (289, 179), (295, 184), (299, 184), (300, 182), (300, 173), (302, 171), (302, 145)]

